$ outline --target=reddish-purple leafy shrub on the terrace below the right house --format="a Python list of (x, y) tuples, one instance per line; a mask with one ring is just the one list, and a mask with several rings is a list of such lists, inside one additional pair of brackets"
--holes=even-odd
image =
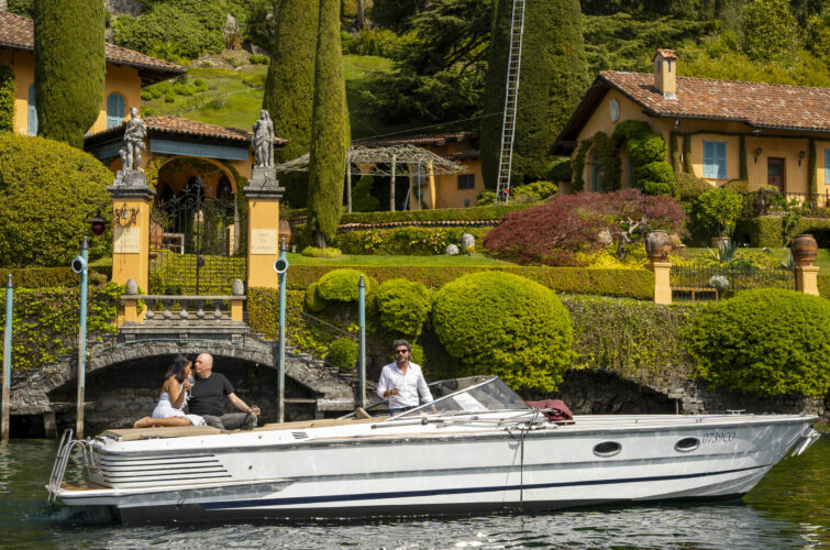
[(487, 234), (484, 244), (494, 255), (520, 263), (585, 265), (577, 254), (604, 248), (598, 239), (600, 231), (617, 237), (643, 217), (650, 230), (684, 232), (686, 215), (674, 199), (628, 189), (562, 195), (545, 205), (509, 213)]

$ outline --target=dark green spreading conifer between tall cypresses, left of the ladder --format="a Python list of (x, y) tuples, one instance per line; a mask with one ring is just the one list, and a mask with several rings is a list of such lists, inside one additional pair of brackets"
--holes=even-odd
[[(395, 68), (370, 76), (362, 90), (365, 109), (386, 123), (473, 116), (480, 107), (491, 2), (418, 2), (422, 9), (405, 24), (411, 32), (391, 53)], [(373, 13), (380, 8), (375, 4)]]

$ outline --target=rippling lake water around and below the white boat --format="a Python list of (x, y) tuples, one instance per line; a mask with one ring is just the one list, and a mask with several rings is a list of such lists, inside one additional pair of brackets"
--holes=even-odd
[(46, 505), (56, 450), (52, 440), (0, 443), (0, 548), (830, 548), (827, 436), (728, 504), (198, 527), (121, 527)]

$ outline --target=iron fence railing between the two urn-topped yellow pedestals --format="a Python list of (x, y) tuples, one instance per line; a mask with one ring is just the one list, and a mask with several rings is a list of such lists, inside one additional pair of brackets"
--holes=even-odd
[(750, 288), (796, 289), (795, 273), (782, 267), (673, 265), (669, 275), (674, 293), (688, 293), (693, 299), (719, 299)]

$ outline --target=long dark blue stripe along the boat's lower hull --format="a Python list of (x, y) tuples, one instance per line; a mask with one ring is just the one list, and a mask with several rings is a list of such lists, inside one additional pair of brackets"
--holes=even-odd
[(534, 483), (528, 485), (497, 485), (490, 487), (460, 487), (460, 488), (438, 488), (429, 491), (401, 491), (395, 493), (361, 493), (352, 495), (324, 495), (324, 496), (300, 496), (292, 498), (261, 498), (257, 501), (232, 501), (223, 503), (204, 503), (200, 504), (203, 509), (225, 509), (225, 508), (255, 508), (262, 506), (290, 506), (295, 504), (318, 504), (318, 503), (342, 503), (350, 501), (378, 501), (387, 498), (409, 498), (417, 496), (438, 496), (438, 495), (461, 495), (475, 493), (494, 493), (497, 491), (530, 491), (534, 488), (553, 488), (553, 487), (576, 487), (588, 485), (612, 485), (620, 483), (642, 483), (657, 482), (669, 480), (688, 480), (693, 477), (708, 477), (712, 475), (732, 474), (738, 472), (748, 472), (760, 470), (768, 465), (739, 468), (735, 470), (721, 470), (720, 472), (705, 472), (699, 474), (679, 474), (679, 475), (655, 475), (650, 477), (624, 477), (617, 480), (590, 480), (578, 482), (561, 483)]

